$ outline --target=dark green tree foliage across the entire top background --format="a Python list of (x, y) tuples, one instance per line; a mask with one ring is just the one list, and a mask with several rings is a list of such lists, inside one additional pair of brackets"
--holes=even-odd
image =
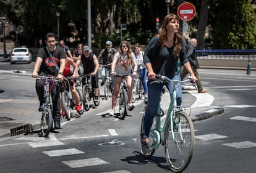
[[(190, 28), (197, 28), (201, 1), (188, 1), (197, 9), (197, 15), (189, 22)], [(208, 24), (213, 27), (213, 48), (256, 48), (254, 10), (249, 1), (207, 0), (207, 3)], [(105, 47), (108, 39), (117, 47), (121, 41), (121, 23), (127, 24), (122, 39), (129, 40), (131, 44), (147, 44), (155, 34), (155, 17), (160, 17), (161, 22), (166, 15), (165, 1), (91, 0), (91, 4), (93, 47)], [(1, 0), (0, 10), (4, 10), (7, 20), (15, 24), (22, 45), (40, 47), (40, 41), (45, 43), (46, 33), (57, 33), (56, 10), (60, 12), (60, 39), (64, 39), (69, 46), (75, 46), (78, 42), (88, 44), (87, 1)], [(176, 4), (170, 7), (170, 12), (176, 14), (176, 10)], [(12, 39), (15, 37), (13, 33)]]

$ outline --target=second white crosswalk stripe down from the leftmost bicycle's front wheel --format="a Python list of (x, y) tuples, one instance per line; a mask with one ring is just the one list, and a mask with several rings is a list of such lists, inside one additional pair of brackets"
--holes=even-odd
[(50, 157), (55, 156), (67, 156), (67, 155), (77, 155), (77, 154), (83, 154), (83, 151), (77, 150), (76, 148), (69, 148), (64, 150), (51, 150), (51, 151), (43, 151), (46, 155)]

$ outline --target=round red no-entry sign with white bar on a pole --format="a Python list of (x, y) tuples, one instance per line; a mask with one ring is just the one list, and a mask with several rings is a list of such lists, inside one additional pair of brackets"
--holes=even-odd
[(177, 15), (181, 20), (192, 20), (195, 17), (195, 6), (189, 2), (184, 2), (178, 7)]

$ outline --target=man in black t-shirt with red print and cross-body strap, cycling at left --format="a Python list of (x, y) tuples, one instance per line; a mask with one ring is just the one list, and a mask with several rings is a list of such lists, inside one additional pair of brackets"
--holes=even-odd
[[(57, 76), (57, 78), (63, 80), (63, 71), (66, 65), (66, 53), (64, 49), (56, 46), (56, 35), (54, 33), (48, 33), (45, 37), (46, 47), (41, 48), (36, 56), (36, 63), (34, 66), (33, 78), (38, 78), (38, 74), (41, 76)], [(48, 50), (49, 52), (48, 52)], [(51, 55), (55, 60), (58, 67), (55, 66)], [(45, 79), (36, 79), (36, 94), (40, 101), (39, 111), (42, 110), (43, 105), (43, 85)], [(54, 129), (61, 128), (61, 103), (60, 103), (60, 85), (54, 82), (54, 86), (51, 88), (51, 98), (53, 100), (53, 120)]]

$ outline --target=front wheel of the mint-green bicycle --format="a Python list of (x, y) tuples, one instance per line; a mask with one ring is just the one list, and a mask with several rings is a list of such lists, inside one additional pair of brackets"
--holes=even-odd
[[(172, 133), (173, 131), (173, 133)], [(164, 131), (166, 161), (173, 172), (181, 172), (189, 165), (193, 155), (195, 132), (189, 116), (184, 112), (176, 113)]]

